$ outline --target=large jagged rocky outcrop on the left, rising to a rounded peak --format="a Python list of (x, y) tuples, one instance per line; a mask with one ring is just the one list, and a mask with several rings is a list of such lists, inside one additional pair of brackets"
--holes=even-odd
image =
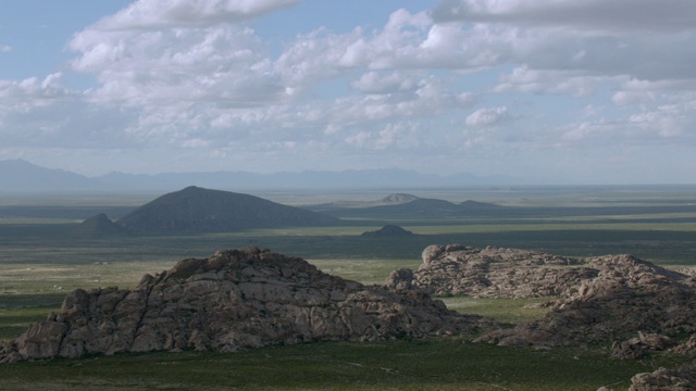
[(0, 346), (0, 362), (159, 350), (470, 335), (497, 324), (419, 291), (366, 287), (257, 248), (189, 258), (133, 290), (75, 290)]

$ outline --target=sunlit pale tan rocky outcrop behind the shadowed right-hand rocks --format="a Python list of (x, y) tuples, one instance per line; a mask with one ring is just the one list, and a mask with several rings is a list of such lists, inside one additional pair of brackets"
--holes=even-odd
[(493, 247), (430, 245), (422, 258), (418, 270), (396, 270), (386, 285), (436, 295), (542, 298), (566, 293), (598, 273), (581, 258)]

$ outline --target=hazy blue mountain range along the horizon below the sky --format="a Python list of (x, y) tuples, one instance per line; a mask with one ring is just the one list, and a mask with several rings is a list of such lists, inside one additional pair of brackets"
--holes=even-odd
[(433, 188), (525, 185), (522, 180), (471, 174), (439, 176), (405, 169), (256, 174), (248, 172), (111, 173), (86, 177), (63, 169), (41, 167), (24, 160), (0, 161), (0, 192), (174, 191), (187, 186), (233, 189), (302, 188)]

